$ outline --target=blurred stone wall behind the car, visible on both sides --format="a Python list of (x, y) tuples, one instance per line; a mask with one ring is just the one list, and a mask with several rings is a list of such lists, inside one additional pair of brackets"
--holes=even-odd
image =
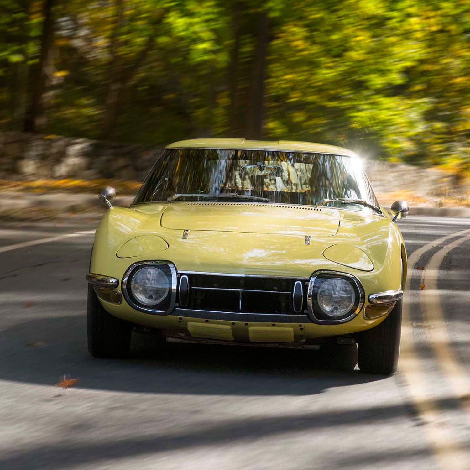
[[(142, 180), (161, 147), (0, 132), (0, 179), (118, 178)], [(425, 197), (461, 191), (451, 176), (407, 164), (366, 161), (377, 194), (413, 191)]]

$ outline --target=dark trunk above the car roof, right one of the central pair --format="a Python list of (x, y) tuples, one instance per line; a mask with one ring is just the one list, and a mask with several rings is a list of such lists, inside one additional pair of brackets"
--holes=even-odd
[(264, 80), (269, 44), (268, 17), (265, 11), (258, 13), (256, 24), (258, 34), (246, 107), (245, 137), (247, 139), (261, 139), (263, 131)]

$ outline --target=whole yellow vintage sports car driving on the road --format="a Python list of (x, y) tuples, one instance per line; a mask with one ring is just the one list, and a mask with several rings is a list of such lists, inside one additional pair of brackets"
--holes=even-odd
[(358, 345), (367, 373), (399, 356), (405, 244), (354, 152), (309, 142), (168, 145), (129, 208), (94, 238), (88, 348), (129, 351), (131, 332), (174, 342)]

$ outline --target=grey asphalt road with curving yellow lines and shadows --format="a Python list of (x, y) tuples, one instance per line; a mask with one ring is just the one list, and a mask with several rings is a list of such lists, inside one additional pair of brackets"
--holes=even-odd
[(0, 225), (0, 469), (470, 468), (470, 219), (400, 222), (412, 269), (386, 378), (143, 335), (128, 360), (91, 358), (94, 226)]

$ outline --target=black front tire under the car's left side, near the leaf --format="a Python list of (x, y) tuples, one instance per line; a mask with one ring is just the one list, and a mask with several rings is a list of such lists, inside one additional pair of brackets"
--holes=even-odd
[(88, 351), (94, 357), (125, 357), (129, 353), (131, 325), (106, 312), (90, 284), (88, 284), (86, 308), (86, 333)]

